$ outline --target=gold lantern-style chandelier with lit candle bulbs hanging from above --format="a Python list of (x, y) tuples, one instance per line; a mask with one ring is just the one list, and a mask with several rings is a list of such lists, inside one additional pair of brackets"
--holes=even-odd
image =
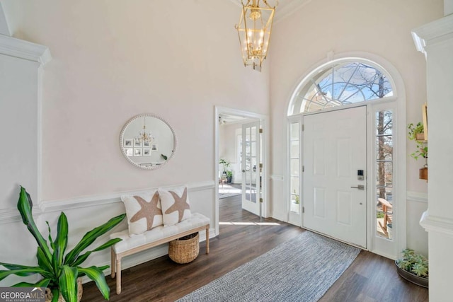
[(243, 65), (252, 66), (257, 71), (261, 71), (261, 65), (268, 55), (275, 7), (278, 5), (278, 1), (273, 7), (266, 0), (262, 2), (263, 7), (260, 7), (260, 0), (248, 0), (246, 4), (242, 0), (241, 18), (235, 26), (239, 34)]

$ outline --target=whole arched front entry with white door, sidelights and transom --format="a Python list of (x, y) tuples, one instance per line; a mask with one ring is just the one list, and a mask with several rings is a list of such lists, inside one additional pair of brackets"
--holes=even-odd
[[(367, 57), (373, 61), (343, 57), (320, 64), (292, 94), (288, 221), (395, 258), (406, 245), (405, 95), (398, 71)], [(337, 116), (359, 108), (360, 121)]]

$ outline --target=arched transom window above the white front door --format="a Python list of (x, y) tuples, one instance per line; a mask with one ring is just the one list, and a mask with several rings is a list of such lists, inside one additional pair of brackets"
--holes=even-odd
[(288, 115), (325, 110), (392, 96), (389, 78), (369, 62), (334, 62), (307, 76), (295, 91)]

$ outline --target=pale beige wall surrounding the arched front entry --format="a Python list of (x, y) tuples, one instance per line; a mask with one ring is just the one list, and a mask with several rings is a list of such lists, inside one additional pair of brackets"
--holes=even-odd
[[(285, 220), (285, 176), (287, 104), (302, 76), (326, 59), (327, 53), (368, 52), (393, 64), (406, 88), (407, 122), (421, 120), (421, 105), (426, 101), (425, 62), (413, 47), (411, 29), (442, 16), (443, 2), (402, 0), (316, 0), (306, 4), (273, 30), (271, 45), (271, 124), (273, 125), (272, 174), (273, 215)], [(408, 145), (408, 151), (413, 146)], [(427, 192), (427, 184), (418, 179), (423, 163), (407, 158), (407, 189)], [(411, 207), (409, 207), (411, 208)], [(412, 207), (413, 208), (413, 207)], [(419, 210), (416, 210), (419, 211)], [(408, 225), (420, 216), (410, 216)], [(413, 242), (408, 238), (408, 243)], [(418, 245), (420, 246), (420, 245)], [(427, 243), (424, 243), (427, 246)], [(424, 248), (426, 250), (426, 248)]]

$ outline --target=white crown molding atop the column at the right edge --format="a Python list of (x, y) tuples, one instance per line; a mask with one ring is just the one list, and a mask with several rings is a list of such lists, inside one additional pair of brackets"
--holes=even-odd
[(453, 38), (453, 15), (445, 16), (412, 30), (413, 42), (426, 56), (426, 47)]

